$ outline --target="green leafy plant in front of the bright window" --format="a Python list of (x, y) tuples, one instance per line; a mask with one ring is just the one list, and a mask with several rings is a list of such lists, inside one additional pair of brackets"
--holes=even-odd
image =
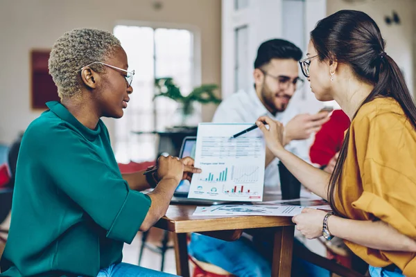
[(164, 96), (180, 103), (182, 125), (186, 125), (187, 118), (193, 114), (194, 102), (200, 102), (202, 105), (219, 104), (221, 102), (221, 99), (214, 93), (214, 90), (218, 89), (216, 84), (202, 84), (200, 87), (195, 87), (187, 96), (180, 92), (180, 88), (177, 87), (172, 78), (155, 79), (155, 87), (156, 93), (153, 100), (159, 96)]

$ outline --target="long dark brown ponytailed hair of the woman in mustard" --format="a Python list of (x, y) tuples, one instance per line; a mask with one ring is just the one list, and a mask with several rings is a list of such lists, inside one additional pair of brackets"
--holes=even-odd
[[(415, 103), (399, 66), (385, 53), (385, 42), (379, 26), (371, 17), (356, 10), (340, 10), (318, 22), (311, 32), (311, 41), (321, 61), (329, 59), (349, 64), (356, 78), (374, 85), (374, 89), (358, 110), (374, 98), (388, 96), (399, 102), (404, 114), (416, 129)], [(341, 213), (336, 208), (334, 199), (340, 196), (338, 184), (347, 157), (348, 142), (349, 129), (328, 187), (329, 203), (338, 214)]]

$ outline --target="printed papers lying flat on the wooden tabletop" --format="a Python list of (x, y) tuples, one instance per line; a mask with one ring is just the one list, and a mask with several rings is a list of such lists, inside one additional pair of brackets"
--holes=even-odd
[(286, 205), (215, 205), (210, 207), (196, 207), (193, 215), (223, 216), (223, 215), (268, 215), (289, 216), (302, 213), (304, 206)]

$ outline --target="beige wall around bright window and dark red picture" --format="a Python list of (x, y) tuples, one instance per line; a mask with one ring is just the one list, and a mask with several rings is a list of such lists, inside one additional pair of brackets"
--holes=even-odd
[[(41, 111), (30, 106), (29, 52), (51, 48), (73, 28), (112, 31), (117, 21), (157, 21), (196, 26), (201, 37), (202, 83), (220, 85), (220, 0), (1, 0), (0, 1), (0, 143), (10, 143)], [(136, 91), (139, 93), (139, 91)], [(211, 120), (214, 107), (204, 107)], [(112, 120), (106, 120), (113, 129)]]

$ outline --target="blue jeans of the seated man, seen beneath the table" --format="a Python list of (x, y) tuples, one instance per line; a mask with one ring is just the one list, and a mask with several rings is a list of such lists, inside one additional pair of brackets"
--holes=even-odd
[[(296, 239), (295, 243), (301, 244)], [(272, 242), (268, 242), (267, 247), (272, 253)], [(254, 244), (245, 238), (235, 242), (225, 242), (193, 233), (188, 249), (189, 254), (197, 260), (209, 262), (236, 276), (271, 276), (271, 256), (263, 256)], [(326, 269), (294, 258), (291, 276), (329, 277), (330, 275)]]

